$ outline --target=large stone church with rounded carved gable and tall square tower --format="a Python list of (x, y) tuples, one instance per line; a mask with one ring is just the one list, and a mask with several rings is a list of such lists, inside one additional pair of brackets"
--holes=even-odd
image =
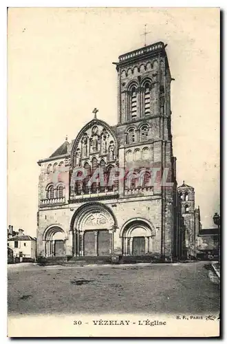
[[(182, 184), (177, 189), (173, 79), (165, 47), (162, 42), (148, 45), (114, 63), (116, 125), (108, 125), (94, 109), (74, 140), (66, 139), (49, 158), (39, 160), (37, 257), (171, 261), (193, 252), (199, 211), (193, 188)], [(98, 176), (89, 184), (97, 169), (104, 182)], [(83, 171), (84, 178), (75, 178)], [(124, 176), (116, 178), (121, 171)], [(162, 183), (164, 174), (168, 186)]]

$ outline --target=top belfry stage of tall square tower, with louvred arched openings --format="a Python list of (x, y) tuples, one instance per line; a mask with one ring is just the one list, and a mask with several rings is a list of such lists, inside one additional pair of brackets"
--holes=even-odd
[(171, 137), (171, 73), (162, 42), (119, 56), (118, 125), (142, 120), (155, 124), (153, 136)]

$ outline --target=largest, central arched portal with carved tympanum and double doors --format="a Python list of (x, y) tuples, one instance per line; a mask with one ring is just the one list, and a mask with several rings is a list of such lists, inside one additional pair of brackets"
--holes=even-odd
[(116, 219), (105, 204), (80, 206), (72, 218), (74, 256), (107, 256), (114, 252)]

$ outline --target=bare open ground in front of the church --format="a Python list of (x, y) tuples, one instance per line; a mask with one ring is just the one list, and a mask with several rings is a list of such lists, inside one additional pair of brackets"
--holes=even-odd
[[(210, 275), (211, 274), (211, 275)], [(217, 314), (208, 263), (8, 266), (9, 314)]]

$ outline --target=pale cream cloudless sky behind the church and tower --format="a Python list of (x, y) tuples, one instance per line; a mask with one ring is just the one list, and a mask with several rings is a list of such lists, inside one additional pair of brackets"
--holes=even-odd
[(195, 188), (203, 228), (219, 212), (219, 10), (8, 10), (8, 224), (36, 236), (38, 160), (93, 118), (117, 122), (118, 56), (167, 44), (177, 182)]

